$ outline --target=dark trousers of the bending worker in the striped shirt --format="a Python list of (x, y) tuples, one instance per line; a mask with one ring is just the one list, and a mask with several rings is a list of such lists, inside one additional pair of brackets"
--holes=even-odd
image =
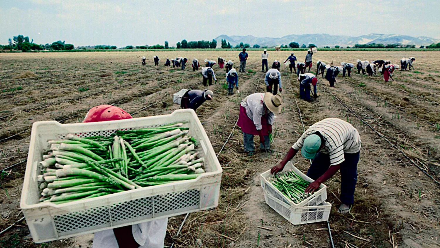
[[(344, 153), (345, 161), (341, 163), (341, 196), (340, 200), (343, 204), (353, 204), (355, 187), (357, 182), (357, 164), (359, 162), (359, 154)], [(307, 171), (307, 175), (313, 180), (322, 176), (330, 167), (330, 155), (319, 152), (313, 159), (312, 165)]]

